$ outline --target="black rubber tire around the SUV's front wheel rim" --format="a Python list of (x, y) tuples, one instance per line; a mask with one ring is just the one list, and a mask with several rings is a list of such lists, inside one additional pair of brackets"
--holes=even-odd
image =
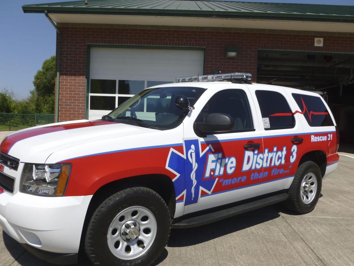
[[(156, 236), (150, 248), (132, 260), (116, 257), (107, 243), (108, 228), (120, 211), (131, 206), (142, 206), (153, 213), (156, 219)], [(121, 190), (98, 206), (93, 213), (85, 237), (85, 253), (93, 265), (136, 265), (152, 264), (165, 248), (170, 236), (170, 211), (159, 194), (146, 187), (132, 187)]]

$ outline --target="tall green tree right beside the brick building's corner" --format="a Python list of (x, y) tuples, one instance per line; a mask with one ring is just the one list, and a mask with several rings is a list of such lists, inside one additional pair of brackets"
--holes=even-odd
[(34, 90), (29, 98), (34, 99), (36, 113), (54, 113), (55, 77), (55, 56), (52, 56), (34, 76)]

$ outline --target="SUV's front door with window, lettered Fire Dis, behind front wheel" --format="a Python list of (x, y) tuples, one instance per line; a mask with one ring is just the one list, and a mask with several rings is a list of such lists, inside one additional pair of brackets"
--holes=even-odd
[[(208, 89), (202, 97), (210, 99), (204, 106), (196, 106), (183, 122), (184, 214), (257, 196), (263, 176), (258, 156), (263, 153), (262, 135), (247, 87)], [(194, 123), (210, 113), (233, 117), (234, 130), (202, 136)]]

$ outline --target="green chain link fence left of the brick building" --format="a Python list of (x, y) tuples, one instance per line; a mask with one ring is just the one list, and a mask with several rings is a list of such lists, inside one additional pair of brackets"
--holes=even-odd
[(0, 113), (0, 131), (19, 130), (50, 123), (54, 123), (54, 115), (51, 114)]

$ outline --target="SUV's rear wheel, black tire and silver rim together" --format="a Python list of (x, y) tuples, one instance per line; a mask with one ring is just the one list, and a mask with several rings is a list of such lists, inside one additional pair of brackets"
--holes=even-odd
[(297, 168), (285, 206), (299, 214), (306, 214), (315, 208), (320, 198), (321, 188), (320, 168), (313, 161), (306, 161)]

